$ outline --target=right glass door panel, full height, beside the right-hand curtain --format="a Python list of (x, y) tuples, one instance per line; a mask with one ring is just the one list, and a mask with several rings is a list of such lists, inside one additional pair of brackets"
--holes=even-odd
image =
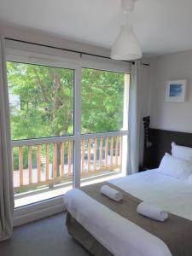
[(124, 108), (128, 108), (125, 101), (125, 94), (129, 90), (128, 76), (99, 69), (82, 69), (82, 185), (123, 174), (128, 120)]

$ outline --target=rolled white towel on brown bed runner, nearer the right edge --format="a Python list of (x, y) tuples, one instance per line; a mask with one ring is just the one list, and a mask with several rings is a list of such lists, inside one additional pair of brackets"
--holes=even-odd
[(164, 221), (166, 220), (166, 218), (169, 217), (168, 212), (160, 210), (157, 207), (153, 207), (145, 202), (142, 202), (141, 204), (138, 205), (137, 213), (159, 221)]

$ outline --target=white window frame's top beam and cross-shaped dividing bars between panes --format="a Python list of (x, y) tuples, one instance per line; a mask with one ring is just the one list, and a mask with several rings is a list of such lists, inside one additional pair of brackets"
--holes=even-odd
[[(74, 70), (74, 97), (73, 97), (73, 135), (66, 137), (46, 137), (39, 139), (29, 139), (21, 141), (12, 141), (12, 146), (25, 146), (25, 145), (37, 145), (38, 143), (58, 143), (63, 141), (73, 141), (73, 187), (79, 188), (80, 177), (81, 177), (81, 140), (94, 138), (94, 137), (119, 137), (126, 136), (128, 138), (128, 117), (127, 128), (125, 131), (111, 131), (103, 133), (93, 133), (93, 134), (81, 134), (81, 89), (82, 89), (82, 68), (95, 68), (98, 70), (104, 70), (109, 72), (120, 72), (120, 73), (130, 73), (129, 63), (122, 61), (112, 61), (106, 60), (100, 57), (92, 56), (81, 56), (77, 53), (66, 52), (60, 49), (49, 49), (45, 46), (37, 46), (26, 43), (18, 43), (14, 41), (6, 41), (6, 56), (7, 61), (18, 61), (29, 64), (44, 65), (50, 67), (61, 67), (70, 68)], [(127, 97), (128, 95), (126, 95)], [(128, 109), (128, 102), (125, 108)], [(127, 113), (128, 114), (128, 113)], [(125, 160), (126, 162), (126, 160)], [(125, 164), (126, 165), (126, 164)], [(125, 168), (125, 167), (124, 167)], [(54, 199), (51, 200), (51, 202)], [(55, 199), (58, 201), (58, 199)], [(26, 206), (27, 207), (27, 206)]]

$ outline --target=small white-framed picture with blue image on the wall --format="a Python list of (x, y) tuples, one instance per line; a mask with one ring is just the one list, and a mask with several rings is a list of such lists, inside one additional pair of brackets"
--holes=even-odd
[(166, 83), (166, 102), (185, 102), (186, 80), (168, 81)]

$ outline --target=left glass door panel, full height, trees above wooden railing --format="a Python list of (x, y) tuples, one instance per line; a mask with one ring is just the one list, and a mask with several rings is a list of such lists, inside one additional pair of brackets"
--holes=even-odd
[(72, 188), (75, 70), (13, 61), (7, 70), (19, 207)]

